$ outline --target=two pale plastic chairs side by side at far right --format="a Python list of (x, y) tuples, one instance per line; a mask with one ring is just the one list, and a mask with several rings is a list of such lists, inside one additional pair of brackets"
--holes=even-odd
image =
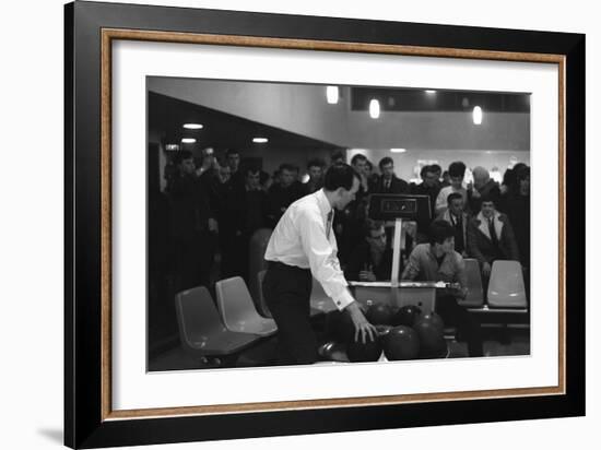
[[(466, 259), (466, 272), (469, 293), (459, 304), (468, 308), (483, 308), (484, 291), (478, 260)], [(491, 309), (527, 308), (523, 274), (518, 261), (497, 260), (493, 262), (486, 301)]]

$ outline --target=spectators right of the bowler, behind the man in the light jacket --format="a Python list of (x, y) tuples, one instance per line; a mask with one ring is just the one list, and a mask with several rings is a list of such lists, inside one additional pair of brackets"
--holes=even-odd
[[(530, 265), (530, 168), (517, 164), (507, 169), (503, 183), (494, 181), (484, 167), (474, 167), (473, 182), (464, 182), (466, 164), (453, 162), (447, 177), (441, 177), (438, 165), (426, 165), (421, 170), (422, 182), (408, 183), (394, 175), (393, 161), (379, 162), (380, 174), (364, 170), (366, 157), (357, 154), (351, 161), (362, 176), (357, 201), (343, 214), (338, 228), (341, 241), (341, 261), (349, 280), (390, 280), (391, 235), (393, 223), (367, 218), (370, 193), (409, 193), (429, 198), (431, 223), (448, 223), (455, 234), (455, 250), (463, 258), (474, 258), (482, 271), (484, 291), (495, 260), (515, 260), (522, 265), (528, 285)], [(413, 225), (413, 226), (412, 226)], [(412, 249), (427, 241), (429, 224), (409, 223), (401, 250), (399, 279)]]

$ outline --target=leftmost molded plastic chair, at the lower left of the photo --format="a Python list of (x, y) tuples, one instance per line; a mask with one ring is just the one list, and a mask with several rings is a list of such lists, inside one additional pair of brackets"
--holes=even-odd
[(205, 287), (182, 291), (175, 296), (181, 346), (198, 356), (223, 356), (239, 352), (259, 336), (227, 330)]

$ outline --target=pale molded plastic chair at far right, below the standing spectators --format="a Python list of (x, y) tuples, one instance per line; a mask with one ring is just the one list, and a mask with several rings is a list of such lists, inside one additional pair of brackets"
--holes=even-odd
[(488, 283), (488, 306), (491, 308), (526, 308), (526, 288), (518, 261), (493, 262)]

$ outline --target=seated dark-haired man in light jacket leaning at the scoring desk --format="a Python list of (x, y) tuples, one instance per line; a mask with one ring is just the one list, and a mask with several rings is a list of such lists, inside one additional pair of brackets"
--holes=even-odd
[(457, 327), (458, 334), (468, 341), (470, 356), (483, 356), (480, 323), (457, 304), (457, 298), (466, 297), (468, 288), (466, 263), (455, 251), (455, 229), (448, 222), (434, 221), (428, 239), (428, 244), (420, 244), (411, 252), (402, 280), (457, 283), (457, 288), (436, 291), (436, 312), (445, 324)]

